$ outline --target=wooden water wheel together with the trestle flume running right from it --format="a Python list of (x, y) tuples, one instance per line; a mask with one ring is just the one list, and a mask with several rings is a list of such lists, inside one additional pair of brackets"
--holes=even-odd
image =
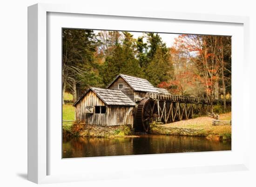
[[(223, 100), (213, 100), (213, 105), (223, 104)], [(227, 104), (231, 103), (227, 100)], [(147, 93), (137, 106), (135, 129), (149, 131), (149, 123), (160, 121), (172, 123), (206, 115), (211, 103), (205, 98), (176, 96), (171, 94)]]

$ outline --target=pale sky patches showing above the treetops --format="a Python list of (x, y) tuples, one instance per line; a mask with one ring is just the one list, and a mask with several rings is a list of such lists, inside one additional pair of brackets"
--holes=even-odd
[[(94, 31), (95, 33), (98, 33), (100, 31)], [(143, 32), (130, 32), (135, 39), (137, 39), (140, 36), (143, 36)], [(167, 34), (167, 33), (158, 33), (160, 37), (162, 38), (162, 41), (166, 43), (167, 47), (171, 47), (174, 44), (174, 39), (179, 36), (179, 34)], [(144, 38), (144, 42), (146, 42), (146, 38)]]

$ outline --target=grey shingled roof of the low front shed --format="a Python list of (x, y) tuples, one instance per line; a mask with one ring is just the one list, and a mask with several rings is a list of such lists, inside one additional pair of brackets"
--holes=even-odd
[(89, 90), (92, 90), (106, 105), (135, 105), (135, 103), (121, 90), (91, 87), (74, 103), (74, 106), (79, 103), (79, 101), (88, 93)]

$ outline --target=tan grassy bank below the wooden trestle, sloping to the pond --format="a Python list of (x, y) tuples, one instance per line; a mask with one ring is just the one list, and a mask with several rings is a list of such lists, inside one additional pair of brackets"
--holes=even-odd
[[(231, 126), (213, 126), (214, 119), (204, 116), (168, 124), (151, 124), (152, 134), (202, 136), (217, 140), (231, 140)], [(231, 112), (221, 114), (219, 120), (231, 120)]]

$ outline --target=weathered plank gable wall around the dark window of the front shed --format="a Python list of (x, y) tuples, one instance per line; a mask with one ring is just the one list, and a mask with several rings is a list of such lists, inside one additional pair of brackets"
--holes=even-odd
[[(82, 100), (76, 104), (75, 107), (75, 119), (84, 120), (89, 125), (108, 125), (108, 116), (105, 114), (90, 114), (86, 113), (86, 107), (93, 106), (105, 106), (105, 103), (90, 90)], [(108, 108), (108, 107), (107, 107)]]

